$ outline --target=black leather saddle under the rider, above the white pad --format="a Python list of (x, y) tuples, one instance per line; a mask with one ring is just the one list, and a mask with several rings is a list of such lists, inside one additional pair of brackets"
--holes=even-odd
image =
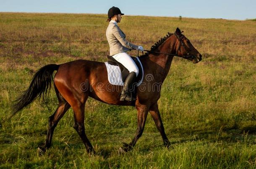
[[(119, 63), (118, 61), (116, 61), (112, 56), (107, 55), (108, 61), (107, 63), (110, 65), (114, 65), (114, 66), (119, 66), (120, 71), (121, 71), (121, 76), (122, 76), (122, 80), (123, 82), (125, 81), (125, 79), (127, 78), (128, 74), (130, 73), (128, 71), (127, 68), (125, 68), (121, 63)], [(138, 76), (136, 77), (134, 83), (138, 83), (138, 81), (141, 80), (142, 76), (143, 76), (143, 69), (141, 67), (141, 63), (140, 61), (138, 61), (138, 58), (131, 56), (131, 58), (133, 59), (133, 61), (135, 62), (135, 64), (138, 67)]]

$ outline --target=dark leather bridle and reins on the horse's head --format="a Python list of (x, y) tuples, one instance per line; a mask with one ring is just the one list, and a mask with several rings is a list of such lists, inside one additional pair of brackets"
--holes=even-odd
[[(183, 31), (181, 32), (183, 33)], [(172, 53), (163, 53), (163, 52), (156, 52), (156, 51), (152, 51), (152, 50), (144, 50), (148, 53), (157, 53), (157, 54), (164, 54), (164, 55), (171, 55), (171, 56), (178, 56), (178, 57), (181, 57), (181, 58), (186, 58), (186, 59), (196, 59), (197, 61), (199, 61), (198, 58), (194, 57), (193, 55), (191, 55), (191, 53), (189, 53), (188, 49), (186, 48), (185, 44), (184, 44), (184, 41), (182, 40), (184, 38), (184, 35), (182, 35), (180, 33), (180, 35), (178, 35), (176, 32), (174, 33), (174, 35), (178, 38), (179, 40), (179, 46), (178, 46), (178, 50), (176, 51), (176, 54), (172, 54)], [(178, 52), (180, 51), (180, 47), (183, 47), (185, 52), (187, 53), (187, 55), (183, 55), (183, 56), (179, 56), (178, 55)], [(143, 53), (143, 51), (142, 51)], [(143, 53), (144, 54), (144, 53)]]

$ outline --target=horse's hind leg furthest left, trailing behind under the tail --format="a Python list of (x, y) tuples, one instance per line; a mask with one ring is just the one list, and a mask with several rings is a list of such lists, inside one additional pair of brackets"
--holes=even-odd
[(64, 116), (64, 114), (70, 108), (70, 104), (63, 98), (63, 96), (59, 93), (59, 91), (57, 90), (56, 87), (55, 87), (55, 93), (57, 95), (59, 105), (58, 105), (56, 111), (54, 112), (54, 114), (52, 114), (52, 116), (50, 116), (48, 118), (47, 136), (46, 136), (46, 141), (45, 141), (45, 145), (43, 148), (44, 151), (46, 149), (50, 148), (54, 129), (57, 126), (60, 119)]

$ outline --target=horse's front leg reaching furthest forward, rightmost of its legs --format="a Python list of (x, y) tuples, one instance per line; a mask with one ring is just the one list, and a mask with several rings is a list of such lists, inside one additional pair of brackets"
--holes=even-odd
[(157, 126), (157, 129), (160, 131), (160, 134), (161, 134), (162, 139), (164, 141), (164, 145), (169, 147), (171, 144), (170, 144), (170, 141), (168, 140), (168, 138), (165, 134), (164, 125), (163, 125), (162, 119), (160, 117), (160, 113), (159, 113), (157, 103), (154, 103), (154, 104), (152, 104), (152, 106), (150, 106), (149, 113), (151, 114), (151, 116), (152, 116), (152, 118), (153, 118), (153, 120), (154, 120), (154, 122)]

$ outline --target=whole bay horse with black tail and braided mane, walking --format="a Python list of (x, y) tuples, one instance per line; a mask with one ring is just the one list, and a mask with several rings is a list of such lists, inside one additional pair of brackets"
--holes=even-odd
[[(74, 113), (73, 128), (76, 129), (84, 142), (87, 152), (94, 152), (84, 129), (84, 109), (88, 97), (107, 104), (136, 107), (138, 122), (136, 134), (131, 143), (124, 143), (120, 147), (120, 152), (130, 151), (135, 146), (136, 141), (143, 133), (148, 112), (154, 119), (164, 145), (170, 146), (157, 104), (162, 83), (170, 70), (172, 58), (175, 55), (193, 61), (193, 63), (201, 61), (202, 55), (193, 47), (179, 28), (176, 29), (175, 33), (168, 33), (166, 37), (161, 38), (151, 47), (151, 50), (147, 51), (148, 53), (140, 57), (145, 75), (142, 83), (146, 86), (146, 90), (137, 87), (136, 101), (119, 101), (119, 93), (122, 87), (111, 85), (108, 82), (107, 69), (104, 63), (76, 60), (60, 65), (49, 64), (40, 68), (32, 78), (29, 88), (16, 99), (13, 105), (14, 111), (10, 118), (37, 97), (41, 98), (42, 96), (45, 100), (47, 91), (53, 81), (59, 105), (54, 114), (48, 119), (47, 137), (42, 151), (50, 148), (55, 127), (65, 112), (72, 107)], [(54, 71), (57, 72), (52, 78)], [(147, 75), (151, 76), (150, 80), (146, 79)], [(159, 90), (155, 90), (156, 88)]]

